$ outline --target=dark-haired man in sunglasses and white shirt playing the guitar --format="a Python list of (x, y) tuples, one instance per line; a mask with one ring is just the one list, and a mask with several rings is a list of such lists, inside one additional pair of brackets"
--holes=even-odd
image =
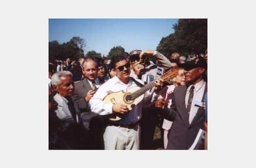
[(104, 133), (105, 149), (139, 149), (140, 145), (140, 126), (138, 124), (141, 119), (142, 106), (153, 104), (157, 98), (158, 92), (162, 88), (162, 79), (156, 80), (154, 92), (147, 91), (144, 99), (136, 105), (131, 111), (126, 105), (122, 104), (106, 104), (103, 102), (105, 96), (109, 93), (127, 90), (130, 87), (141, 86), (139, 81), (131, 79), (130, 63), (123, 56), (114, 56), (111, 59), (112, 67), (116, 76), (105, 82), (94, 97), (89, 101), (92, 112), (105, 116), (113, 113), (126, 113), (123, 119), (118, 121), (107, 120), (108, 124)]

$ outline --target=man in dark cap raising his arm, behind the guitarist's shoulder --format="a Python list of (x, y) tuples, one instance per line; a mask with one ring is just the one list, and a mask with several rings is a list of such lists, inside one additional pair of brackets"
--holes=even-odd
[[(149, 62), (149, 58), (154, 57), (158, 61), (158, 65)], [(162, 76), (164, 71), (172, 67), (172, 63), (155, 50), (133, 50), (129, 55), (131, 63), (131, 77), (139, 78), (143, 82), (143, 85), (147, 85), (153, 82), (154, 79), (158, 79)], [(154, 107), (143, 108), (142, 115), (144, 116), (140, 120), (141, 125), (141, 149), (152, 149), (152, 143), (154, 138), (154, 131), (156, 125), (159, 123), (158, 113), (154, 112)], [(145, 113), (145, 114), (144, 114)]]

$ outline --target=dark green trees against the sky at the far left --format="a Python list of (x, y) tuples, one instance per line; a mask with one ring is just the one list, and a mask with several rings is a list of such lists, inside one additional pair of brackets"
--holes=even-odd
[(78, 59), (84, 56), (85, 40), (72, 37), (68, 42), (60, 44), (58, 41), (49, 41), (49, 58), (65, 60), (66, 58)]

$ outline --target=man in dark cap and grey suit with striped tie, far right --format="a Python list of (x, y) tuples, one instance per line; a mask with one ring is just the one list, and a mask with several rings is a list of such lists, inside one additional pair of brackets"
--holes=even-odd
[(167, 149), (189, 149), (198, 131), (204, 130), (205, 109), (198, 102), (203, 102), (207, 93), (207, 82), (203, 80), (207, 64), (202, 57), (193, 56), (181, 65), (187, 85), (174, 89), (170, 110), (164, 111), (167, 118), (174, 118)]

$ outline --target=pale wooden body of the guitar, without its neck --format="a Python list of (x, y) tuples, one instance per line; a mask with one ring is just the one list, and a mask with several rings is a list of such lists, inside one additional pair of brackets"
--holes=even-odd
[[(139, 97), (137, 97), (132, 101), (126, 101), (125, 97), (127, 97), (128, 95), (131, 95), (132, 93), (134, 93), (139, 89), (140, 87), (134, 86), (134, 87), (128, 88), (127, 90), (121, 90), (120, 92), (110, 93), (109, 95), (104, 97), (103, 102), (112, 103), (113, 105), (115, 104), (127, 105), (128, 109), (132, 110), (132, 108), (134, 108), (136, 105), (139, 104), (139, 102), (143, 100), (144, 94), (140, 95)], [(108, 118), (112, 121), (118, 121), (124, 118), (124, 115), (125, 115), (124, 113), (115, 113), (115, 114), (108, 115)]]

